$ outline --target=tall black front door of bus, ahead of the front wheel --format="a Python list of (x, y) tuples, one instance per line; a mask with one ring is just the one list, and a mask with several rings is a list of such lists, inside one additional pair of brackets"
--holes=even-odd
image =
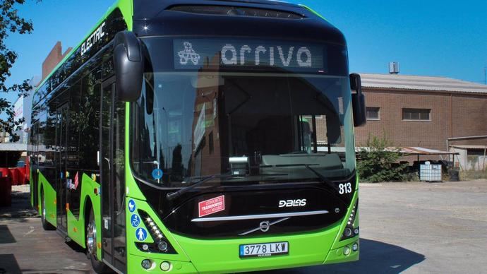
[(125, 103), (115, 100), (114, 78), (102, 84), (101, 113), (103, 261), (125, 273)]

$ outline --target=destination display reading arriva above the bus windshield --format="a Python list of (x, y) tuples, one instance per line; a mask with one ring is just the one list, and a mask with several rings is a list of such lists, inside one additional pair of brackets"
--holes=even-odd
[(220, 65), (326, 71), (326, 47), (323, 44), (222, 39), (173, 41), (175, 69)]

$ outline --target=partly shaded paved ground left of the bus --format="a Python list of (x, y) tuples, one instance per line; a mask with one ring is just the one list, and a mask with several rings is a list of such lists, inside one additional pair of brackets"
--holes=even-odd
[(12, 186), (11, 208), (0, 208), (0, 274), (90, 273), (83, 249), (44, 231), (30, 207), (29, 186)]

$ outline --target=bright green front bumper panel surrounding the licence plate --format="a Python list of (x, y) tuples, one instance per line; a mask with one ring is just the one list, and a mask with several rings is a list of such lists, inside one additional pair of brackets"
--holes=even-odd
[[(355, 194), (354, 202), (357, 194)], [(290, 268), (299, 266), (313, 266), (324, 263), (343, 263), (356, 261), (359, 259), (359, 251), (351, 252), (349, 256), (342, 254), (343, 247), (358, 242), (359, 237), (354, 237), (344, 241), (339, 241), (343, 229), (347, 224), (347, 219), (337, 222), (335, 225), (327, 227), (327, 230), (320, 232), (306, 232), (301, 234), (285, 235), (278, 237), (244, 237), (242, 239), (191, 239), (177, 234), (172, 234), (167, 230), (150, 205), (145, 201), (127, 197), (126, 201), (136, 202), (137, 210), (144, 210), (150, 218), (160, 228), (161, 232), (172, 244), (178, 254), (150, 254), (139, 251), (136, 248), (136, 230), (144, 227), (127, 226), (127, 270), (128, 273), (140, 273), (145, 271), (140, 263), (145, 258), (150, 258), (159, 266), (162, 261), (169, 261), (174, 265), (172, 271), (175, 273), (222, 273), (222, 272), (241, 272), (257, 271), (275, 268)], [(127, 203), (128, 204), (128, 203)], [(127, 212), (128, 208), (126, 208)], [(130, 224), (131, 214), (126, 216), (127, 224)], [(356, 220), (356, 223), (357, 220)], [(148, 230), (149, 232), (149, 230)], [(152, 243), (150, 234), (143, 242)], [(264, 258), (239, 258), (240, 244), (255, 244), (268, 242), (289, 242), (289, 255), (272, 256)], [(191, 265), (191, 263), (193, 265)], [(188, 264), (189, 263), (189, 264)], [(175, 266), (181, 266), (177, 269)], [(194, 267), (194, 268), (193, 268)]]

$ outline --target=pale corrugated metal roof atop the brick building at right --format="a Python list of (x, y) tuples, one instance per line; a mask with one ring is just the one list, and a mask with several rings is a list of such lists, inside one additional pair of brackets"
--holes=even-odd
[(446, 77), (360, 73), (363, 88), (433, 90), (487, 95), (487, 85)]

